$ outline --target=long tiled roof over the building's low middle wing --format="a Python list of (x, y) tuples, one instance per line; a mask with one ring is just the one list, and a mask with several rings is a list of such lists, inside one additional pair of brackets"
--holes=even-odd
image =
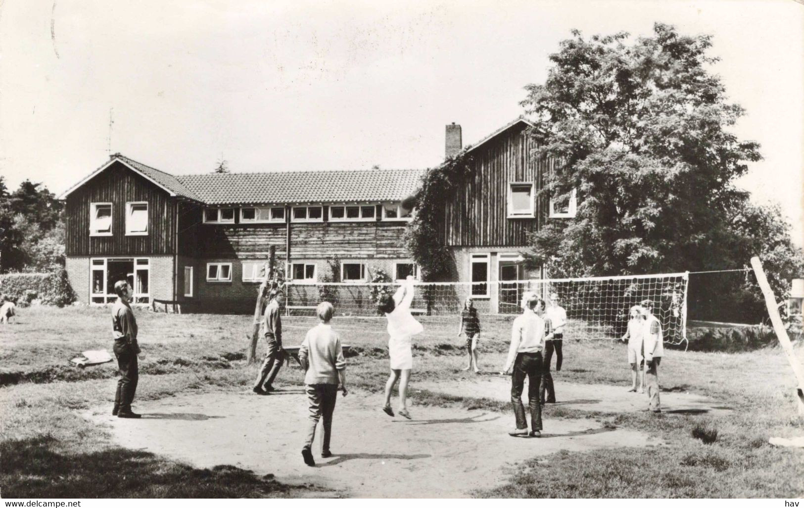
[(328, 203), (402, 200), (424, 170), (207, 173), (176, 179), (207, 204)]

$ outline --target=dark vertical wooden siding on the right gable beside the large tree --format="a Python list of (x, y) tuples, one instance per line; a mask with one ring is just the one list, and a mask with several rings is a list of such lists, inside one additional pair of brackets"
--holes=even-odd
[(441, 238), (447, 246), (527, 246), (546, 213), (544, 198), (535, 198), (535, 217), (508, 218), (508, 184), (531, 182), (534, 195), (544, 185), (548, 161), (531, 160), (533, 139), (515, 126), (473, 151), (470, 176), (458, 183), (445, 205)]

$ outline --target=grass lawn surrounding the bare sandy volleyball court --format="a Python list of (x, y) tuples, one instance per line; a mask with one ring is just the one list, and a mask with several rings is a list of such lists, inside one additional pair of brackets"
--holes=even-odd
[[(510, 320), (484, 324), (481, 368), (497, 371), (507, 351)], [(0, 487), (4, 497), (293, 497), (326, 494), (290, 487), (270, 477), (221, 466), (195, 469), (165, 457), (111, 443), (102, 427), (80, 411), (111, 407), (113, 364), (79, 370), (69, 358), (85, 349), (111, 349), (109, 309), (27, 308), (17, 323), (0, 329), (5, 386), (0, 387)], [(242, 358), (249, 316), (166, 315), (137, 312), (146, 360), (137, 399), (208, 390), (246, 390), (256, 372)], [(510, 411), (503, 399), (475, 399), (474, 374), (460, 369), (466, 357), (456, 337), (457, 320), (427, 319), (414, 341), (414, 404), (482, 407)], [(312, 320), (285, 320), (285, 344), (301, 342)], [(388, 373), (382, 320), (336, 320), (344, 343), (355, 346), (349, 382), (379, 392)], [(630, 383), (624, 345), (565, 341), (564, 369), (556, 383)], [(258, 351), (263, 349), (259, 345)], [(799, 347), (798, 355), (804, 358)], [(14, 374), (13, 376), (11, 374)], [(795, 414), (794, 378), (781, 349), (752, 353), (666, 351), (660, 371), (664, 390), (706, 394), (732, 407), (728, 416), (609, 414), (546, 407), (544, 417), (593, 418), (662, 436), (657, 448), (561, 452), (529, 461), (507, 485), (478, 497), (800, 497), (804, 450), (776, 448), (770, 436), (801, 436)], [(425, 390), (416, 380), (466, 379), (466, 397)], [(35, 382), (25, 382), (33, 380)], [(13, 382), (12, 382), (13, 381)], [(47, 382), (50, 381), (50, 382)], [(14, 384), (18, 382), (18, 384)], [(301, 383), (301, 372), (284, 369), (281, 384)], [(136, 406), (136, 403), (135, 403)], [(696, 436), (712, 436), (704, 444)]]

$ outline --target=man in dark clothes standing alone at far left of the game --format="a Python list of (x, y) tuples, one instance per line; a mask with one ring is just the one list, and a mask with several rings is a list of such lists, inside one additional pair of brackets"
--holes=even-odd
[(134, 319), (129, 305), (132, 291), (129, 283), (119, 280), (114, 284), (114, 292), (117, 293), (117, 301), (112, 306), (112, 336), (120, 379), (117, 380), (112, 415), (117, 415), (117, 418), (139, 418), (140, 415), (131, 411), (139, 380), (137, 354), (140, 353), (140, 346), (137, 344), (137, 320)]

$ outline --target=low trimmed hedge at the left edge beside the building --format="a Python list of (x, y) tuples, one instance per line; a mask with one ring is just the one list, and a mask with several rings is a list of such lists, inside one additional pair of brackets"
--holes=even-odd
[(2, 274), (0, 301), (6, 299), (21, 307), (31, 303), (64, 307), (76, 301), (76, 292), (64, 270), (52, 274)]

